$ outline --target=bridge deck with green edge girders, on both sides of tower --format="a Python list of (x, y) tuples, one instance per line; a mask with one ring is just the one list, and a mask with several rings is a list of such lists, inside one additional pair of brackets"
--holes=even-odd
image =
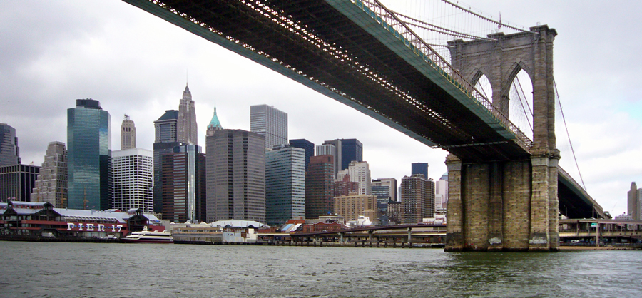
[[(467, 163), (530, 158), (531, 140), (379, 4), (123, 1)], [(569, 195), (560, 195), (560, 210), (576, 212), (571, 217), (601, 213), (570, 176), (559, 181), (560, 193)]]

